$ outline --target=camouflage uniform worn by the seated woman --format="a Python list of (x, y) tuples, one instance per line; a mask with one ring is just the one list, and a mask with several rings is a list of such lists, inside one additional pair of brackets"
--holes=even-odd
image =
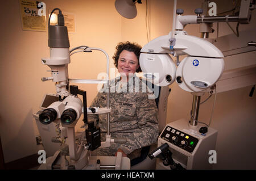
[[(109, 106), (112, 108), (110, 134), (113, 138), (126, 138), (127, 141), (125, 144), (112, 143), (111, 148), (100, 149), (102, 151), (98, 152), (105, 152), (101, 155), (114, 155), (118, 148), (128, 155), (134, 150), (152, 145), (157, 141), (159, 132), (158, 110), (155, 99), (148, 99), (148, 95), (152, 95), (152, 93), (148, 92), (145, 87), (146, 81), (142, 81), (135, 74), (128, 82), (121, 81), (120, 77), (110, 81)], [(113, 91), (114, 88), (115, 91)], [(102, 88), (98, 92), (90, 107), (106, 107), (106, 90)], [(107, 132), (106, 113), (88, 115), (88, 121), (96, 121), (101, 132)], [(101, 138), (102, 141), (105, 141), (105, 134), (101, 134)], [(135, 155), (135, 158), (139, 155), (140, 151), (139, 154)]]

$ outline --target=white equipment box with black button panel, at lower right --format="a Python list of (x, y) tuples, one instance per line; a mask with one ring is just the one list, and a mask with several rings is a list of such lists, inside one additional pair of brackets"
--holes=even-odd
[[(202, 125), (198, 124), (199, 129)], [(203, 136), (189, 125), (188, 120), (180, 119), (168, 123), (158, 138), (158, 146), (165, 143), (169, 145), (175, 163), (180, 163), (184, 169), (212, 169), (209, 163), (209, 150), (214, 150), (217, 140), (217, 131), (208, 127), (208, 132)], [(185, 141), (185, 145), (181, 145)], [(170, 170), (164, 166), (163, 161), (157, 159), (156, 169)]]

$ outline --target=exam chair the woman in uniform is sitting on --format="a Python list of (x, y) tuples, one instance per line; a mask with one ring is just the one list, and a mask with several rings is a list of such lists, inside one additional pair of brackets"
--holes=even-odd
[[(154, 87), (153, 87), (154, 89)], [(158, 107), (158, 122), (159, 135), (166, 126), (167, 102), (171, 89), (168, 86), (158, 87), (159, 96), (155, 99)], [(155, 170), (156, 159), (150, 159), (147, 155), (158, 146), (157, 142), (154, 145), (146, 146), (141, 150), (141, 157), (131, 160), (131, 170)]]

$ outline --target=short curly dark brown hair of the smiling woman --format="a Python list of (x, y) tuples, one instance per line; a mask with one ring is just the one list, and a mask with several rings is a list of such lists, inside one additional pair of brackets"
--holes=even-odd
[[(118, 59), (119, 59), (119, 55), (123, 50), (127, 50), (129, 52), (133, 52), (137, 58), (138, 58), (138, 65), (139, 65), (139, 55), (141, 54), (141, 45), (137, 44), (137, 43), (130, 43), (129, 41), (126, 41), (125, 43), (120, 42), (118, 43), (117, 47), (115, 47), (115, 54), (112, 57), (114, 60), (114, 65), (117, 68), (117, 64), (118, 64)], [(139, 66), (139, 68), (136, 70), (136, 72), (141, 72), (141, 66)]]

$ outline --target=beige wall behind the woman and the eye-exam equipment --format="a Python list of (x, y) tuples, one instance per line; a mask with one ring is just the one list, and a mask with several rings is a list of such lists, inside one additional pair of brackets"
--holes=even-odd
[[(146, 1), (137, 5), (135, 19), (122, 18), (114, 8), (112, 1), (44, 1), (48, 9), (59, 7), (63, 11), (76, 15), (76, 33), (69, 33), (71, 47), (88, 45), (99, 47), (112, 56), (119, 41), (136, 41), (142, 46), (147, 43), (146, 36)], [(193, 10), (201, 7), (203, 0), (178, 1), (177, 8), (184, 9), (184, 15), (193, 15)], [(150, 37), (167, 35), (172, 28), (173, 1), (148, 1), (150, 7)], [(11, 9), (5, 7), (12, 7)], [(49, 76), (49, 68), (40, 62), (41, 57), (49, 56), (47, 32), (22, 31), (18, 0), (5, 1), (1, 6), (1, 109), (0, 136), (5, 154), (5, 162), (10, 162), (27, 155), (37, 153), (41, 146), (36, 146), (38, 133), (32, 113), (39, 110), (43, 95), (55, 92), (51, 81), (41, 82), (41, 77)], [(241, 25), (240, 30), (255, 28), (255, 12), (250, 25)], [(232, 24), (235, 26), (235, 24)], [(221, 24), (220, 36), (232, 33), (225, 24)], [(200, 36), (199, 25), (185, 27), (189, 35)], [(213, 33), (211, 36), (216, 36)], [(243, 56), (241, 56), (242, 58)], [(251, 62), (255, 62), (255, 53)], [(225, 60), (226, 61), (226, 60)], [(226, 61), (226, 68), (241, 65)], [(105, 56), (100, 52), (75, 54), (69, 64), (69, 78), (96, 78), (105, 71)], [(88, 104), (97, 94), (95, 85), (79, 85), (87, 91)], [(168, 99), (167, 123), (187, 118), (192, 106), (192, 95), (176, 85), (171, 86)], [(215, 169), (255, 169), (255, 95), (249, 97), (251, 87), (244, 87), (217, 95), (212, 127), (218, 130), (217, 164)], [(202, 99), (206, 98), (205, 95)], [(208, 123), (212, 110), (213, 98), (200, 107), (200, 120)], [(81, 125), (81, 121), (77, 127)], [(235, 159), (236, 158), (236, 159)]]

